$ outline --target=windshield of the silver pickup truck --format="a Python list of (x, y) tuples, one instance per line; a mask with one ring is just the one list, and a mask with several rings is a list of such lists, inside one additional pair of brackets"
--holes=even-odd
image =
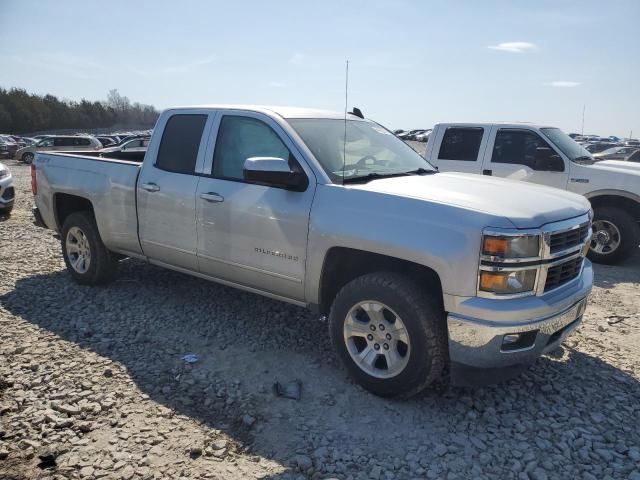
[(348, 120), (346, 144), (344, 120), (299, 118), (288, 122), (336, 183), (436, 171), (410, 146), (373, 122)]

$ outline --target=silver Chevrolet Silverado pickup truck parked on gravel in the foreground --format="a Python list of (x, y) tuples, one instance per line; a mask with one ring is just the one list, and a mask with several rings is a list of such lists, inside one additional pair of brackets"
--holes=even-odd
[(505, 378), (582, 320), (586, 199), (438, 173), (361, 116), (170, 109), (140, 160), (36, 155), (35, 213), (75, 281), (125, 256), (313, 308), (378, 395)]

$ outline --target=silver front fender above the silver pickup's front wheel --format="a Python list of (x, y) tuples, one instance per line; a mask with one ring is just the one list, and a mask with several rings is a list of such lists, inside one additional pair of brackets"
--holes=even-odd
[(482, 230), (509, 228), (502, 218), (458, 206), (380, 192), (318, 185), (311, 210), (305, 297), (319, 302), (327, 252), (345, 247), (434, 270), (445, 294), (476, 293)]

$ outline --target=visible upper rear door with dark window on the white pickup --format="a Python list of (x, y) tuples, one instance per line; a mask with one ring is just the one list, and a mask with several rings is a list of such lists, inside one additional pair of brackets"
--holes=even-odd
[(488, 137), (485, 132), (484, 127), (440, 126), (431, 151), (432, 163), (441, 172), (480, 173)]

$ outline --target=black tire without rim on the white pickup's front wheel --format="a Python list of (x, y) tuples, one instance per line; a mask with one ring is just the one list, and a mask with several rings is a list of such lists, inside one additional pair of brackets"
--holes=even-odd
[(618, 207), (598, 207), (594, 210), (593, 222), (604, 220), (615, 225), (620, 232), (620, 245), (610, 252), (598, 253), (593, 250), (597, 232), (591, 241), (588, 257), (594, 263), (606, 265), (615, 264), (630, 257), (638, 249), (640, 244), (640, 226), (632, 215)]

